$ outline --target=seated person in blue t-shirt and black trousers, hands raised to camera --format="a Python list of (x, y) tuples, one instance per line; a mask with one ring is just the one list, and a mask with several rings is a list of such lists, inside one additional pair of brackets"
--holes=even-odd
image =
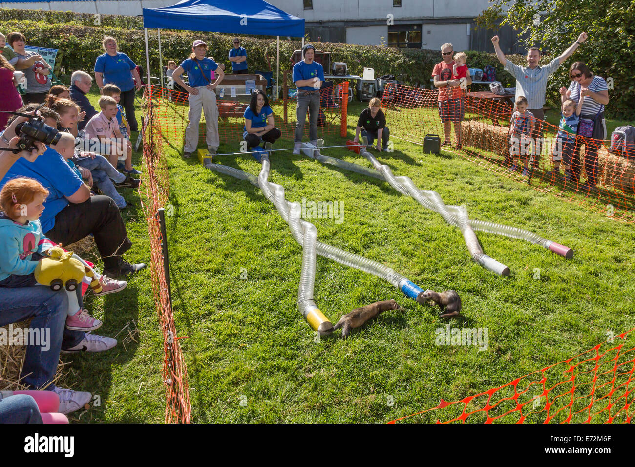
[[(37, 104), (30, 104), (37, 107)], [(40, 109), (43, 111), (44, 107)], [(18, 112), (29, 112), (29, 105)], [(53, 114), (55, 114), (53, 112)], [(15, 137), (15, 128), (26, 118), (13, 119), (0, 137), (3, 143)], [(55, 128), (57, 120), (44, 114), (44, 123)], [(121, 255), (132, 243), (128, 240), (126, 226), (115, 202), (108, 196), (91, 196), (90, 188), (73, 172), (65, 159), (54, 149), (35, 161), (20, 158), (0, 180), (0, 189), (10, 179), (30, 177), (40, 182), (49, 191), (44, 201), (44, 212), (40, 217), (42, 231), (47, 238), (70, 245), (93, 234), (97, 249), (104, 261), (104, 274), (118, 278), (143, 269), (145, 264), (129, 264)]]

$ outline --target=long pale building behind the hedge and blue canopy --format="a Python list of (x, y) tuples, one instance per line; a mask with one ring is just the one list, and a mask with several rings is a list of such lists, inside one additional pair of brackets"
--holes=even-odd
[[(239, 1), (239, 0), (238, 0)], [(525, 53), (509, 26), (497, 30), (474, 27), (474, 18), (488, 0), (268, 0), (281, 10), (305, 19), (310, 39), (361, 45), (436, 50), (446, 42), (455, 50), (493, 51), (490, 37), (498, 34), (505, 53)], [(97, 0), (14, 3), (0, 7), (24, 10), (76, 11), (110, 15), (142, 14), (178, 0)], [(284, 31), (281, 31), (284, 36)]]

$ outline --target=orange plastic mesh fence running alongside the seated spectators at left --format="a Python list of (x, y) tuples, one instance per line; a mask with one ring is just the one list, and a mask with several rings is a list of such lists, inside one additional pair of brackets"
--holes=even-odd
[[(146, 92), (147, 93), (147, 92)], [(158, 119), (154, 105), (147, 105), (145, 99), (144, 125), (142, 137), (144, 144), (144, 175), (139, 187), (141, 204), (148, 222), (150, 238), (152, 291), (156, 304), (159, 323), (163, 330), (163, 382), (166, 390), (166, 423), (189, 423), (190, 400), (187, 386), (187, 367), (176, 337), (172, 306), (168, 297), (168, 285), (163, 270), (163, 252), (161, 250), (161, 228), (157, 218), (159, 208), (168, 200), (170, 182), (166, 165), (163, 140), (158, 134)]]

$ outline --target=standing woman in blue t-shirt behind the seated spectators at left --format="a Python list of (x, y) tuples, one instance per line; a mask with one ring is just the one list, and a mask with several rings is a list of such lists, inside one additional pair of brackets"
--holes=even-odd
[(126, 109), (130, 131), (137, 132), (135, 118), (135, 89), (141, 89), (141, 78), (137, 65), (128, 55), (117, 52), (117, 39), (104, 36), (102, 47), (105, 52), (95, 60), (95, 81), (101, 91), (104, 85), (112, 83), (121, 89), (121, 105)]

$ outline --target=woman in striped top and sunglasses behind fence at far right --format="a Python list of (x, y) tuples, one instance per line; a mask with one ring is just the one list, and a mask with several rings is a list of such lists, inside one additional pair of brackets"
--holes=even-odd
[[(578, 102), (580, 93), (584, 96), (582, 112), (580, 112), (580, 126), (578, 126), (578, 135), (587, 136), (584, 150), (584, 169), (587, 173), (587, 182), (582, 186), (582, 189), (596, 191), (596, 184), (598, 182), (598, 150), (600, 147), (598, 140), (606, 138), (604, 106), (608, 104), (608, 87), (606, 86), (605, 79), (592, 74), (584, 62), (575, 62), (571, 65), (569, 78), (571, 79), (571, 85), (567, 91), (568, 98), (572, 99), (573, 102)], [(598, 119), (596, 119), (596, 117), (598, 117)], [(590, 139), (589, 136), (591, 135), (588, 133), (587, 135), (581, 133), (581, 129), (584, 128), (584, 125), (582, 125), (583, 120), (590, 121), (590, 125), (587, 125), (587, 128), (594, 130), (594, 133), (598, 135), (596, 139)], [(594, 128), (594, 121), (596, 125), (601, 125), (601, 128)], [(574, 175), (575, 178), (578, 179), (580, 176), (579, 142), (575, 146), (573, 161), (577, 161), (578, 173), (574, 173)]]

